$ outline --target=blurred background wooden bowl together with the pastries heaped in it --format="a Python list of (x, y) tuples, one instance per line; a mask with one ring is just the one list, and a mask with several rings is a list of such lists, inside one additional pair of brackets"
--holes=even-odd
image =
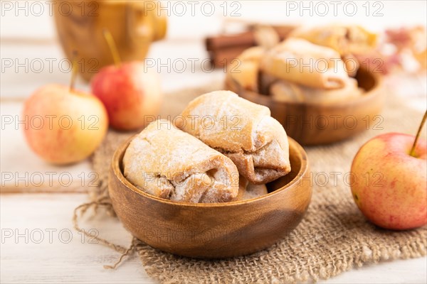
[[(355, 42), (347, 45), (353, 47), (350, 50), (363, 49), (356, 48)], [(344, 53), (327, 44), (291, 37), (270, 50), (258, 48), (251, 56), (239, 56), (242, 69), (237, 71), (248, 75), (229, 68), (226, 89), (268, 107), (288, 136), (299, 143), (342, 141), (378, 122), (386, 92), (381, 74), (360, 64), (352, 54), (340, 52)]]

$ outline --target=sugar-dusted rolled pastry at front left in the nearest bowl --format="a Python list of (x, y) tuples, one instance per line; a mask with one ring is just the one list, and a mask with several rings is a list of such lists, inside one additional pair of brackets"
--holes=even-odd
[(130, 142), (123, 166), (133, 185), (174, 201), (226, 202), (238, 192), (236, 165), (166, 120), (152, 122)]

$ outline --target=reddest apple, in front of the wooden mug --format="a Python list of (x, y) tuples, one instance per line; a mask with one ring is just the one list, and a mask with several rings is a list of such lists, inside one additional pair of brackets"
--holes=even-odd
[(92, 79), (92, 92), (105, 105), (110, 126), (140, 129), (159, 114), (162, 104), (159, 75), (144, 70), (142, 62), (104, 67)]

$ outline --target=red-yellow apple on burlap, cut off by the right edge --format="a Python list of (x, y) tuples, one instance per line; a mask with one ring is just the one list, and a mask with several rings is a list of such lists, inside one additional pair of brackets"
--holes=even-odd
[(364, 144), (354, 157), (352, 194), (362, 213), (386, 229), (412, 229), (427, 223), (427, 142), (386, 133)]

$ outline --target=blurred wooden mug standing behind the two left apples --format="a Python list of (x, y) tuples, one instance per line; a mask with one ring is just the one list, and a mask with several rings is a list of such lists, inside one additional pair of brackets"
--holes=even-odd
[(67, 1), (53, 3), (58, 37), (65, 55), (78, 52), (80, 74), (85, 80), (114, 63), (102, 30), (107, 28), (123, 61), (144, 60), (149, 45), (164, 38), (167, 18), (153, 1)]

